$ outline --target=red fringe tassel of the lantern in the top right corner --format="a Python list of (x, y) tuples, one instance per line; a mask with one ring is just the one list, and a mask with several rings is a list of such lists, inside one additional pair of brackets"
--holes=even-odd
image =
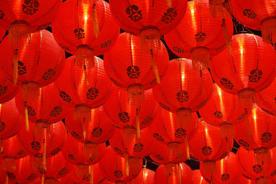
[(276, 43), (276, 18), (270, 17), (261, 22), (262, 38), (270, 44)]

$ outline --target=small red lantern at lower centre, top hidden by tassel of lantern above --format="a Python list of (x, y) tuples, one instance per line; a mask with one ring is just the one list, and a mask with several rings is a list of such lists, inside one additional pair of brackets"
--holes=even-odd
[[(133, 156), (143, 159), (144, 156), (148, 156), (154, 148), (152, 144), (154, 140), (152, 134), (148, 128), (141, 130), (141, 137), (138, 138), (136, 129), (132, 127), (126, 127), (128, 130), (117, 129), (115, 134), (109, 140), (112, 149), (121, 156)], [(128, 135), (124, 135), (128, 134)]]

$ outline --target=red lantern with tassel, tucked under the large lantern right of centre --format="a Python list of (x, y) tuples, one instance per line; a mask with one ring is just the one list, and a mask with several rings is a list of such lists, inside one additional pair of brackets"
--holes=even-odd
[(177, 160), (190, 159), (188, 140), (192, 139), (197, 130), (197, 114), (193, 113), (192, 116), (193, 122), (184, 126), (177, 122), (177, 114), (161, 109), (157, 119), (150, 125), (149, 128), (155, 140), (167, 145), (165, 150), (168, 150), (168, 161), (175, 161), (175, 157)]

